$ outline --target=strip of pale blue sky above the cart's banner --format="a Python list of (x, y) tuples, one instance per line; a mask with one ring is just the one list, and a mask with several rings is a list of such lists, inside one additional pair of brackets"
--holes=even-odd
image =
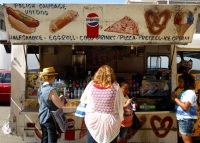
[(99, 4), (123, 4), (126, 0), (1, 0), (3, 3), (99, 3)]

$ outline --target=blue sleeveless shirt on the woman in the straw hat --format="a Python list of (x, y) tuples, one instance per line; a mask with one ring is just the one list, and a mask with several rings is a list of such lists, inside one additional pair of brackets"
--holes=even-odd
[(54, 88), (50, 84), (40, 86), (38, 90), (38, 100), (39, 100), (39, 122), (44, 124), (50, 117), (51, 111), (58, 109), (54, 103), (49, 100), (49, 94)]

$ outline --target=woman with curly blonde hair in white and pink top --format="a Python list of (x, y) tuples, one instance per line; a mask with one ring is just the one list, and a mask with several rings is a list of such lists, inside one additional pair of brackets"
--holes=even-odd
[(124, 98), (111, 67), (103, 65), (98, 69), (94, 80), (87, 85), (81, 103), (87, 104), (87, 142), (117, 143)]

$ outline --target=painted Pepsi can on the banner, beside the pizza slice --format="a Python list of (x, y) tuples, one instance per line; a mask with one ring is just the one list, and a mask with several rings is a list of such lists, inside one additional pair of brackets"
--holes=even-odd
[(86, 18), (87, 37), (97, 38), (99, 35), (99, 16), (96, 13), (89, 13)]

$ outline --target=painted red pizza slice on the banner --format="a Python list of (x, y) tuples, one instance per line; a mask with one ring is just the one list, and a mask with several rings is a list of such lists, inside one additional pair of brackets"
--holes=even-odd
[(104, 31), (124, 34), (139, 35), (137, 23), (128, 16), (107, 27)]

